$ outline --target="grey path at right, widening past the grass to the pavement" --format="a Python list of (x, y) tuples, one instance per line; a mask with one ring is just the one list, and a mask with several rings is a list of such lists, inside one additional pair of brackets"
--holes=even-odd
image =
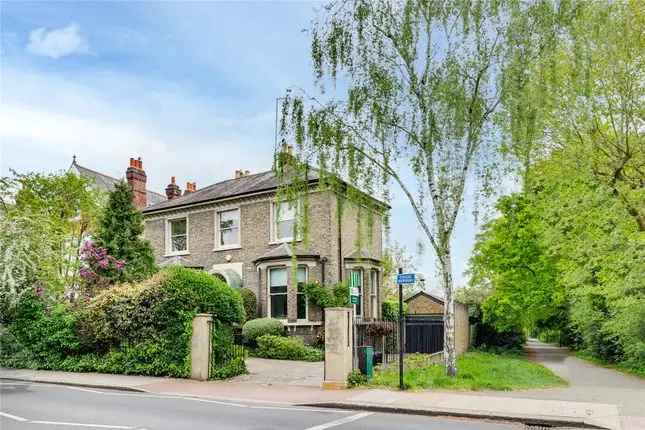
[(569, 386), (512, 392), (487, 391), (486, 395), (610, 403), (618, 405), (624, 430), (645, 430), (645, 379), (595, 366), (573, 357), (567, 348), (534, 339), (527, 342), (524, 350), (530, 360), (548, 367), (566, 379)]

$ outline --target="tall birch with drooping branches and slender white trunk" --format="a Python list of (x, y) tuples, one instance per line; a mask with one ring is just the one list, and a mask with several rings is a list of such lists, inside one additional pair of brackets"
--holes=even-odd
[(321, 182), (341, 186), (337, 178), (346, 178), (348, 198), (363, 207), (370, 200), (354, 187), (388, 201), (394, 182), (407, 198), (439, 263), (448, 375), (457, 371), (451, 239), (467, 179), (488, 191), (505, 50), (525, 31), (508, 17), (523, 8), (505, 1), (331, 2), (311, 31), (311, 57), (321, 89), (338, 81), (347, 96), (321, 101), (289, 93), (283, 103), (282, 135), (295, 141), (298, 155), (278, 171), (295, 190), (306, 188), (308, 166), (317, 161)]

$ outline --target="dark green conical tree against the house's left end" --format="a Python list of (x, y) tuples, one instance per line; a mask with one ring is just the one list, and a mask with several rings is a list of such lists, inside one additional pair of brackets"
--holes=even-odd
[(142, 280), (156, 271), (152, 248), (142, 234), (143, 216), (132, 203), (132, 189), (121, 181), (110, 192), (96, 240), (109, 255), (125, 262), (122, 271), (112, 273), (113, 281)]

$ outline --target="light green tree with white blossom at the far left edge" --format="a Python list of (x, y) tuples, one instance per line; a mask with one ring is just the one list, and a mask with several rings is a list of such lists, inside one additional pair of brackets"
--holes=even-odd
[(78, 248), (94, 231), (101, 195), (72, 173), (0, 178), (0, 321), (20, 295), (40, 288), (49, 298), (75, 287)]

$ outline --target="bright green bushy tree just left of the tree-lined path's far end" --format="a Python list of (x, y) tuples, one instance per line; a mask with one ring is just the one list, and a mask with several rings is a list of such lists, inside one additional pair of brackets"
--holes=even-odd
[(494, 286), (482, 303), (486, 322), (501, 331), (531, 329), (559, 311), (564, 292), (529, 198), (504, 197), (497, 209), (501, 216), (477, 239), (470, 282), (482, 289)]

